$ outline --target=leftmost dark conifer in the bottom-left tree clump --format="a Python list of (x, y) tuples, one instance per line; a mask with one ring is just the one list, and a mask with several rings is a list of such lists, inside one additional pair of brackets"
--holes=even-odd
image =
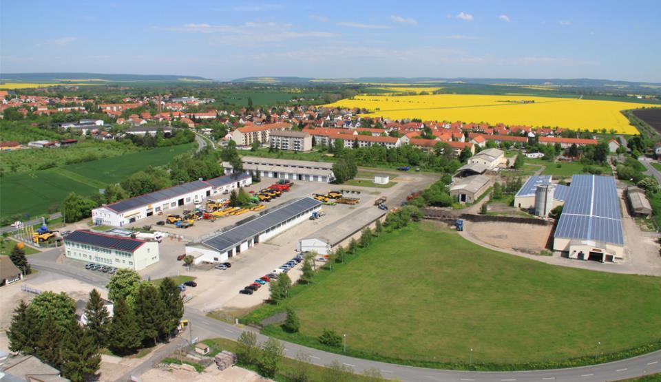
[(9, 349), (22, 354), (34, 354), (39, 339), (39, 321), (34, 310), (21, 300), (14, 308), (12, 323), (7, 331)]

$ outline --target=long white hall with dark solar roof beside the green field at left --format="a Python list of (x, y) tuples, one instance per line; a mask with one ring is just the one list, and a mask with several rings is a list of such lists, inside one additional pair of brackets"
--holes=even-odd
[(201, 203), (206, 198), (229, 193), (233, 189), (249, 186), (252, 178), (246, 173), (239, 176), (220, 176), (209, 180), (196, 180), (136, 196), (92, 210), (96, 225), (124, 226), (158, 213), (165, 213), (186, 204)]

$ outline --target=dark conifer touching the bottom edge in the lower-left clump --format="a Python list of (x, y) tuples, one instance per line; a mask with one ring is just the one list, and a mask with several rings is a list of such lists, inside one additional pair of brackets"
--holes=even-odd
[(83, 382), (96, 374), (101, 365), (101, 354), (98, 354), (98, 342), (94, 332), (76, 325), (72, 333), (64, 341), (62, 356), (63, 376), (72, 382)]

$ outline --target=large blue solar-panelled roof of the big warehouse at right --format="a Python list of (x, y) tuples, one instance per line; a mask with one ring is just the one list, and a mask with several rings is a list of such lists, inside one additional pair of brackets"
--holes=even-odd
[(624, 245), (615, 180), (574, 175), (554, 237)]

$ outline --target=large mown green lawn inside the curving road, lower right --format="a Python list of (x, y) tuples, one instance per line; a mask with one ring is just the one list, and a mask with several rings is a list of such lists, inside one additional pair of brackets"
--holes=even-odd
[(351, 258), (244, 319), (291, 306), (300, 333), (267, 326), (265, 334), (321, 348), (317, 337), (330, 328), (346, 333), (350, 354), (437, 367), (466, 363), (470, 348), (473, 363), (521, 364), (594, 357), (597, 341), (608, 354), (659, 340), (659, 277), (544, 264), (432, 222), (379, 237)]

